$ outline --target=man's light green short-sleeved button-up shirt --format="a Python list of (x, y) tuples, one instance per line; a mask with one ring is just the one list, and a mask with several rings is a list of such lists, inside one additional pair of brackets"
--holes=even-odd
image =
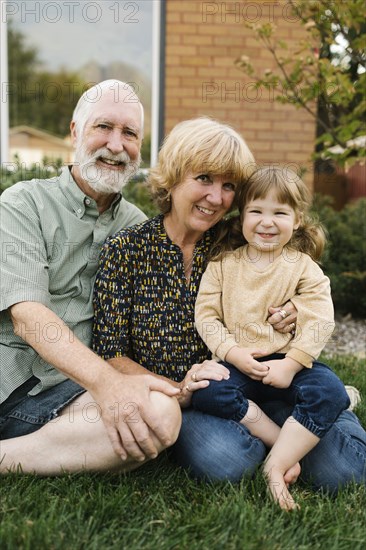
[[(146, 216), (120, 195), (99, 214), (70, 170), (59, 177), (17, 183), (0, 197), (0, 402), (32, 375), (36, 395), (65, 379), (16, 336), (8, 308), (18, 302), (49, 307), (87, 346), (91, 344), (92, 294), (105, 239)], [(57, 338), (55, 327), (37, 338)], [(38, 331), (38, 333), (37, 333)], [(57, 333), (57, 330), (56, 330)], [(51, 336), (52, 334), (52, 336)], [(49, 336), (50, 335), (50, 336)]]

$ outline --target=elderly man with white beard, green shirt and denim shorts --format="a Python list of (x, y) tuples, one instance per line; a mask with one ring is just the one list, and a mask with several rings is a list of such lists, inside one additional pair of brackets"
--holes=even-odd
[(0, 471), (131, 469), (179, 432), (178, 390), (128, 376), (90, 349), (107, 236), (145, 219), (121, 196), (140, 162), (143, 108), (104, 81), (71, 122), (75, 163), (1, 196)]

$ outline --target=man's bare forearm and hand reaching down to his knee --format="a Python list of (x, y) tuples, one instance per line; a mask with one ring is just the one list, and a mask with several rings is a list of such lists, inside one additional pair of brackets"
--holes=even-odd
[[(122, 459), (154, 458), (157, 449), (149, 430), (164, 446), (169, 438), (149, 413), (150, 391), (179, 393), (165, 380), (148, 374), (125, 376), (85, 346), (55, 313), (38, 302), (10, 308), (15, 333), (48, 363), (83, 386), (101, 408), (113, 448)], [(133, 422), (131, 418), (133, 409)]]

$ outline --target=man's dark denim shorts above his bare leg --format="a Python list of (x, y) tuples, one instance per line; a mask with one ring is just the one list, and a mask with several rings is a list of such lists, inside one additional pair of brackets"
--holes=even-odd
[(62, 411), (85, 389), (65, 380), (38, 395), (28, 396), (38, 379), (34, 376), (17, 388), (0, 405), (0, 440), (27, 435), (57, 419)]

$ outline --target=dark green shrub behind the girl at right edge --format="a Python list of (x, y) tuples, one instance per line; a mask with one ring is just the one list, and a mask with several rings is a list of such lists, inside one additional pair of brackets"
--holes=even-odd
[(366, 199), (337, 212), (331, 199), (316, 195), (313, 209), (328, 232), (322, 267), (332, 286), (337, 312), (364, 317), (366, 312)]

